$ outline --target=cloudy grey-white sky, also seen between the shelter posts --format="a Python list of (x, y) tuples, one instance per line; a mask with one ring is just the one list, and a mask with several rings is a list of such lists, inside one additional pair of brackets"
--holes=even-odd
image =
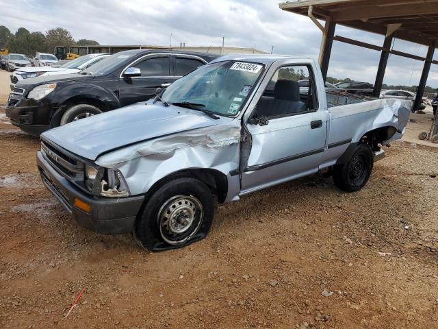
[[(0, 25), (45, 32), (64, 27), (75, 40), (101, 45), (225, 45), (318, 59), (321, 32), (309, 18), (279, 9), (278, 0), (14, 0), (1, 1)], [(19, 10), (18, 10), (19, 8)], [(336, 34), (383, 45), (383, 36), (338, 26)], [(394, 49), (426, 56), (426, 47), (396, 40)], [(374, 83), (378, 51), (334, 42), (329, 75)], [(435, 52), (438, 59), (438, 51)], [(386, 84), (416, 85), (422, 62), (391, 56)], [(428, 85), (438, 88), (438, 65)]]

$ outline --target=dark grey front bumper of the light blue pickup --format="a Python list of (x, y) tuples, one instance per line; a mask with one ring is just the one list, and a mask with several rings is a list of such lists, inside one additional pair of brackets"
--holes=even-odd
[[(60, 175), (51, 167), (41, 151), (38, 151), (36, 160), (44, 186), (55, 195), (60, 204), (64, 206), (80, 226), (101, 234), (132, 232), (138, 212), (144, 201), (143, 195), (114, 199), (90, 197), (73, 186), (63, 175)], [(76, 208), (73, 204), (74, 198), (90, 204), (90, 213)]]

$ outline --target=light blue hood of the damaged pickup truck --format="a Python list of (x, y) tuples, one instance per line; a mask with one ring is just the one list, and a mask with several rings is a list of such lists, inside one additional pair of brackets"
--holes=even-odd
[(202, 112), (162, 103), (140, 102), (56, 127), (41, 136), (73, 154), (96, 160), (113, 149), (231, 120), (215, 120)]

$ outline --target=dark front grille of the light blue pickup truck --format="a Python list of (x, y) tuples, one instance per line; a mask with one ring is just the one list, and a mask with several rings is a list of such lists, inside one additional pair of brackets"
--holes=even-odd
[(64, 175), (74, 180), (83, 179), (83, 162), (77, 160), (73, 156), (53, 147), (49, 143), (41, 142), (41, 151), (47, 160), (49, 160), (52, 167), (61, 171)]

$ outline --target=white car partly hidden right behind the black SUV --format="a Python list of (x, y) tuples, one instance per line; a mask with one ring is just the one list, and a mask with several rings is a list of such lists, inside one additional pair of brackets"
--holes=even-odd
[(28, 79), (29, 77), (40, 77), (41, 75), (57, 75), (57, 74), (72, 74), (79, 73), (80, 71), (87, 69), (96, 64), (103, 58), (110, 56), (109, 53), (90, 53), (90, 55), (81, 56), (75, 60), (69, 60), (60, 67), (52, 66), (34, 66), (34, 67), (23, 67), (17, 69), (11, 74), (11, 90), (17, 82)]

